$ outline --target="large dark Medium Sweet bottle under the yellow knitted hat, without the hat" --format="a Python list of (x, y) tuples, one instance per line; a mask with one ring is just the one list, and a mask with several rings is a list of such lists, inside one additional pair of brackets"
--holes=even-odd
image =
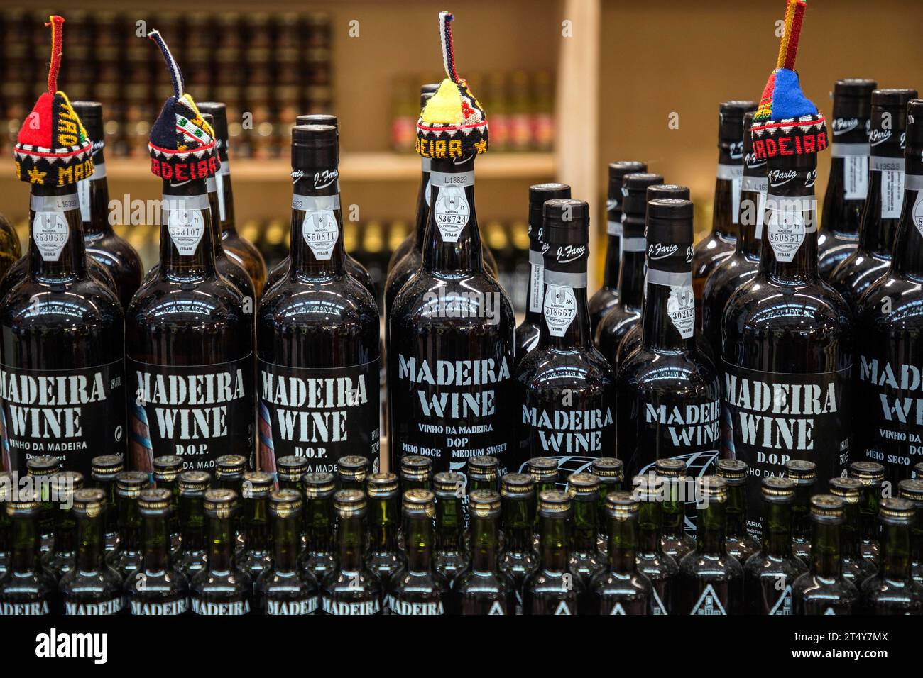
[(437, 470), (450, 470), (488, 454), (506, 472), (515, 317), (485, 271), (473, 165), (473, 156), (432, 161), (423, 264), (391, 309), (390, 456), (426, 452)]

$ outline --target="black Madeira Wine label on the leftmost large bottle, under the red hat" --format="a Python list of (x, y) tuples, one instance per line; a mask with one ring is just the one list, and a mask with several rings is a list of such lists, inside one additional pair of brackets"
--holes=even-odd
[(51, 455), (90, 478), (90, 459), (125, 451), (125, 363), (73, 370), (0, 366), (5, 468)]

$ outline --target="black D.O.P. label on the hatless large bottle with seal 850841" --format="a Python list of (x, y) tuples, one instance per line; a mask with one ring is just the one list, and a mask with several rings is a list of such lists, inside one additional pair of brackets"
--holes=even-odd
[(378, 458), (378, 359), (322, 369), (258, 363), (262, 470), (274, 472), (276, 458), (290, 455), (330, 472), (347, 455)]

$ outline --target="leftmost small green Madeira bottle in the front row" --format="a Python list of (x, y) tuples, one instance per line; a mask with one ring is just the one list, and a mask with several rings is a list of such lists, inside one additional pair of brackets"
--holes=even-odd
[(0, 615), (56, 613), (54, 575), (40, 558), (40, 494), (19, 491), (4, 504), (10, 522), (10, 553), (0, 578)]

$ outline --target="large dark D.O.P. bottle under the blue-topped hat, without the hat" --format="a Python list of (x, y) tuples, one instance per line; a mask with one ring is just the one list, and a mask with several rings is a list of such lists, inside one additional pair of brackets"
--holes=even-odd
[[(773, 155), (768, 176), (760, 270), (722, 319), (725, 456), (758, 477), (780, 475), (788, 459), (809, 459), (830, 478), (849, 456), (853, 325), (843, 297), (817, 272), (817, 154)], [(749, 487), (754, 537), (759, 494)]]

